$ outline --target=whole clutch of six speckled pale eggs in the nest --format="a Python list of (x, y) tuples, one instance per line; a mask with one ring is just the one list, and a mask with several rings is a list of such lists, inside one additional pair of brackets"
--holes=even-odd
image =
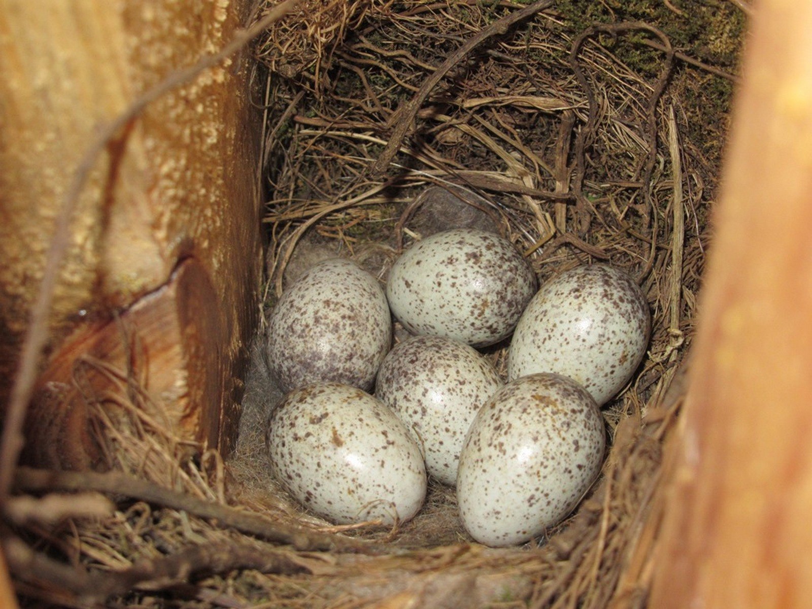
[[(555, 525), (598, 475), (598, 406), (639, 365), (650, 313), (633, 279), (610, 266), (536, 286), (509, 241), (476, 229), (413, 244), (386, 295), (352, 261), (313, 266), (270, 318), (269, 363), (291, 391), (268, 421), (276, 477), (338, 524), (408, 520), (428, 471), (456, 483), (478, 542), (513, 545)], [(387, 356), (391, 314), (418, 336)], [(502, 387), (469, 345), (514, 328)], [(361, 389), (376, 374), (372, 397)]]

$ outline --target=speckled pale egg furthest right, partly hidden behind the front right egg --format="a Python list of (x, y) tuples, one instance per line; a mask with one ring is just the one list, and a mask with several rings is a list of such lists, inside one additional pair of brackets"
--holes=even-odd
[(508, 351), (508, 379), (564, 374), (603, 405), (640, 365), (650, 330), (646, 297), (623, 270), (568, 270), (545, 283), (522, 314)]

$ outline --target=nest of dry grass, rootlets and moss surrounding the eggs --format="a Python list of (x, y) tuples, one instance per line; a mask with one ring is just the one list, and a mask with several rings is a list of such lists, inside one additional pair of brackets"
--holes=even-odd
[[(505, 21), (522, 9), (522, 18)], [(205, 594), (137, 590), (119, 603), (646, 603), (663, 510), (655, 492), (663, 440), (683, 395), (732, 93), (727, 72), (744, 19), (733, 3), (714, 8), (737, 24), (722, 32), (702, 9), (687, 32), (664, 5), (629, 6), (624, 19), (606, 7), (590, 11), (568, 2), (553, 11), (520, 2), (305, 1), (254, 47), (269, 243), (264, 299), (250, 305), (263, 317), (314, 261), (348, 257), (384, 283), (409, 244), (460, 226), (499, 232), (539, 283), (593, 262), (637, 279), (652, 337), (628, 387), (602, 410), (610, 448), (577, 511), (503, 549), (469, 538), (454, 491), (438, 482), (430, 481), (418, 516), (395, 527), (335, 526), (304, 511), (267, 465), (263, 425), (280, 395), (261, 323), (240, 438), (227, 460), (185, 450), (161, 421), (140, 413), (149, 408), (137, 399), (125, 425), (94, 411), (114, 467), (132, 471), (140, 462), (143, 477), (260, 522), (224, 528), (181, 505), (134, 503), (118, 520), (82, 523), (76, 534), (99, 540), (84, 561), (106, 568), (116, 555), (149, 558), (189, 542), (232, 556), (253, 552), (246, 568), (199, 577)], [(641, 23), (644, 14), (650, 20)], [(705, 49), (704, 37), (716, 37), (706, 58), (714, 73), (672, 50)], [(432, 81), (441, 67), (443, 78)], [(503, 377), (506, 348), (482, 350)]]

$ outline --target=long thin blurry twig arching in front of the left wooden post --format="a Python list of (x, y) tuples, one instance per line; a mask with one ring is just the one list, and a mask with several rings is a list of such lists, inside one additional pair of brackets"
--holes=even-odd
[(45, 254), (45, 269), (37, 291), (37, 299), (31, 310), (31, 319), (20, 352), (19, 369), (15, 374), (14, 386), (11, 388), (11, 397), (9, 398), (8, 408), (6, 408), (2, 440), (0, 440), (0, 509), (6, 503), (6, 497), (8, 497), (11, 488), (14, 467), (19, 458), (19, 451), (22, 450), (24, 444), (22, 427), (25, 412), (28, 408), (28, 402), (31, 400), (34, 382), (37, 380), (37, 365), (39, 365), (42, 349), (48, 339), (48, 314), (54, 297), (59, 266), (71, 241), (71, 217), (97, 159), (102, 156), (102, 152), (110, 145), (110, 142), (114, 141), (119, 136), (119, 133), (132, 123), (146, 106), (149, 106), (150, 103), (173, 89), (192, 82), (207, 68), (214, 67), (229, 55), (242, 49), (270, 24), (287, 15), (297, 2), (299, 0), (285, 0), (285, 2), (274, 6), (256, 24), (237, 32), (234, 39), (218, 53), (207, 55), (193, 66), (172, 72), (169, 76), (166, 76), (160, 83), (132, 102), (127, 110), (119, 114), (114, 121), (107, 124), (84, 153), (54, 220), (54, 236), (50, 241), (48, 252)]

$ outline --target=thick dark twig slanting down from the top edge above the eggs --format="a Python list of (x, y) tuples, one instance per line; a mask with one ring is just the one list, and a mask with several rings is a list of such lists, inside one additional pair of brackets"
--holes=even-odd
[(480, 32), (477, 32), (475, 36), (469, 38), (464, 45), (460, 46), (459, 49), (449, 55), (440, 65), (440, 67), (432, 72), (431, 76), (425, 80), (425, 82), (421, 85), (421, 88), (418, 89), (417, 93), (414, 94), (414, 97), (412, 97), (412, 99), (410, 99), (406, 105), (402, 109), (398, 110), (392, 116), (392, 119), (390, 119), (390, 126), (392, 121), (395, 121), (395, 129), (389, 138), (389, 142), (383, 149), (381, 156), (378, 157), (378, 160), (374, 162), (372, 166), (372, 174), (374, 176), (379, 176), (387, 170), (389, 163), (391, 163), (392, 159), (395, 158), (395, 153), (397, 153), (397, 151), (400, 149), (400, 145), (403, 143), (406, 132), (408, 132), (409, 128), (412, 127), (412, 124), (414, 124), (418, 110), (420, 110), (421, 106), (425, 103), (426, 98), (429, 97), (431, 90), (437, 86), (438, 82), (443, 79), (443, 76), (446, 76), (452, 67), (456, 66), (457, 63), (460, 63), (460, 61), (462, 61), (466, 55), (476, 49), (477, 46), (481, 45), (482, 42), (486, 41), (488, 38), (499, 36), (505, 32), (508, 32), (508, 28), (510, 28), (513, 24), (518, 23), (522, 19), (527, 19), (529, 16), (543, 11), (553, 4), (554, 0), (539, 0), (539, 2), (533, 2), (533, 4), (530, 6), (526, 6), (519, 11), (514, 11), (510, 15), (506, 15), (502, 19), (490, 24), (488, 27), (482, 28)]

